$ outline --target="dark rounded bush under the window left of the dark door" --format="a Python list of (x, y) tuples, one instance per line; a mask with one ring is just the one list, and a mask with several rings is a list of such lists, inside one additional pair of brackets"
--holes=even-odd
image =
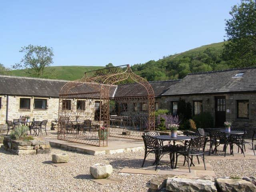
[(209, 112), (202, 112), (195, 115), (193, 118), (197, 128), (212, 128), (214, 126), (214, 119)]

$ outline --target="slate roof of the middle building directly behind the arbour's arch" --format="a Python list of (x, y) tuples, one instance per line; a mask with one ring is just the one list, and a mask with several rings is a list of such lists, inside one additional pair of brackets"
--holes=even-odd
[[(166, 81), (150, 81), (150, 85), (154, 90), (155, 97), (161, 96), (171, 85), (174, 85), (178, 80), (166, 80)], [(118, 85), (114, 97), (139, 97), (148, 96), (148, 93), (144, 86), (138, 83), (121, 84)]]

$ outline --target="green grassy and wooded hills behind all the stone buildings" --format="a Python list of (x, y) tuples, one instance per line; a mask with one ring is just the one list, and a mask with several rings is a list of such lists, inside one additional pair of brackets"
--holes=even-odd
[[(230, 68), (221, 59), (224, 42), (213, 43), (188, 50), (186, 52), (164, 56), (162, 59), (134, 64), (132, 69), (147, 80), (168, 80), (183, 78), (190, 72), (203, 72)], [(84, 76), (84, 72), (104, 68), (102, 66), (51, 66), (46, 70), (54, 70), (54, 78), (76, 80)], [(22, 70), (12, 70), (11, 75), (28, 76)]]

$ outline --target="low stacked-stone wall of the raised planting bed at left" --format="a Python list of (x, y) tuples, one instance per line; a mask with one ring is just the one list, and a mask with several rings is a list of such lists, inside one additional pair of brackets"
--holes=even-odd
[(10, 137), (4, 137), (2, 148), (12, 154), (47, 154), (51, 152), (51, 146), (48, 141), (39, 140), (12, 140)]

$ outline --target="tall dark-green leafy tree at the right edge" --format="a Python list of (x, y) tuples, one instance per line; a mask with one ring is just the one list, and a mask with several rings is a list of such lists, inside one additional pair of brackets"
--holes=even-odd
[(223, 59), (233, 67), (256, 65), (256, 1), (241, 0), (230, 11), (226, 20)]

